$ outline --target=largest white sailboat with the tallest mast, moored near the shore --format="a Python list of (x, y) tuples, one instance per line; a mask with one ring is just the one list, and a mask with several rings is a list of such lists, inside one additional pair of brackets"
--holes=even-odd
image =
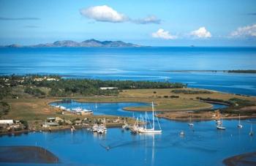
[[(147, 127), (146, 127), (147, 123), (146, 123), (146, 117), (145, 117), (145, 125), (142, 125), (142, 127), (140, 127), (138, 129), (138, 132), (139, 133), (145, 133), (145, 134), (160, 134), (160, 133), (162, 133), (162, 129), (160, 127), (158, 118), (157, 118), (157, 123), (159, 125), (159, 129), (155, 129), (155, 124), (154, 124), (155, 123), (154, 122), (154, 103), (153, 102), (152, 102), (152, 121), (153, 121), (152, 128), (147, 129)], [(143, 121), (143, 124), (144, 124), (144, 121)]]

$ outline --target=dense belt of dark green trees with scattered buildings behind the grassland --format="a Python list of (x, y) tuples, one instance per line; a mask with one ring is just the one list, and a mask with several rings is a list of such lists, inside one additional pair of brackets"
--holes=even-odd
[[(124, 89), (184, 88), (187, 86), (183, 83), (150, 81), (63, 79), (58, 75), (8, 75), (0, 76), (0, 87), (0, 99), (3, 99), (14, 95), (11, 93), (12, 88), (17, 87), (26, 87), (24, 92), (35, 97), (89, 97), (94, 95), (117, 96), (118, 90)], [(48, 91), (41, 89), (48, 89)]]

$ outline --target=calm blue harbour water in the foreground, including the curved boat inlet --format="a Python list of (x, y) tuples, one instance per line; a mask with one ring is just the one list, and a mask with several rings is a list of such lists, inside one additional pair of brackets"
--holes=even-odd
[[(54, 104), (54, 103), (53, 103)], [(89, 107), (94, 103), (62, 103), (64, 107)], [(134, 116), (140, 118), (140, 112), (130, 113), (122, 110), (124, 106), (146, 105), (143, 103), (98, 103), (97, 113), (111, 110), (112, 115)], [(143, 113), (144, 114), (144, 113)], [(152, 113), (148, 112), (152, 121)], [(161, 135), (131, 135), (129, 130), (108, 128), (105, 134), (92, 135), (88, 129), (76, 129), (75, 132), (63, 130), (58, 132), (35, 132), (20, 136), (0, 137), (0, 146), (42, 146), (59, 157), (64, 164), (97, 164), (97, 165), (169, 165), (169, 156), (176, 165), (222, 165), (228, 156), (253, 151), (256, 148), (255, 137), (249, 136), (250, 123), (241, 120), (242, 129), (237, 128), (237, 120), (222, 120), (227, 129), (217, 130), (215, 121), (195, 121), (193, 128), (186, 122), (159, 119)], [(252, 125), (255, 119), (251, 119)], [(157, 123), (157, 120), (155, 120)], [(181, 134), (183, 131), (184, 134)], [(97, 133), (97, 132), (96, 132)], [(26, 140), (26, 141), (25, 141)], [(4, 143), (4, 144), (3, 144)], [(65, 146), (63, 146), (65, 144)], [(236, 147), (233, 147), (236, 144)], [(225, 147), (225, 151), (223, 151)], [(230, 148), (233, 147), (233, 148)], [(66, 151), (65, 149), (69, 149)], [(178, 150), (179, 149), (179, 150)], [(91, 151), (94, 151), (92, 154)], [(220, 154), (219, 152), (222, 152)], [(129, 153), (129, 161), (121, 162)], [(185, 155), (187, 160), (180, 160)], [(194, 155), (200, 155), (198, 161)], [(101, 160), (96, 160), (98, 157)], [(111, 159), (116, 156), (118, 159)], [(141, 160), (143, 159), (143, 160)], [(95, 163), (95, 161), (97, 161)], [(207, 164), (208, 163), (208, 164)], [(211, 164), (210, 164), (211, 163)]]

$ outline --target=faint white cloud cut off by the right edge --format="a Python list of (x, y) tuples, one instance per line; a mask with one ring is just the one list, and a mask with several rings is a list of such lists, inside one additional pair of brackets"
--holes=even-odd
[(256, 24), (252, 26), (243, 26), (231, 32), (232, 37), (256, 37)]

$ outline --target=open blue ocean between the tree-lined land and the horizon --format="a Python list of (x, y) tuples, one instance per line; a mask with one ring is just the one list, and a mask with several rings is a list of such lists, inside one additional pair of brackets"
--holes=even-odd
[(254, 96), (255, 74), (166, 71), (255, 67), (256, 48), (0, 48), (0, 75), (170, 81)]

